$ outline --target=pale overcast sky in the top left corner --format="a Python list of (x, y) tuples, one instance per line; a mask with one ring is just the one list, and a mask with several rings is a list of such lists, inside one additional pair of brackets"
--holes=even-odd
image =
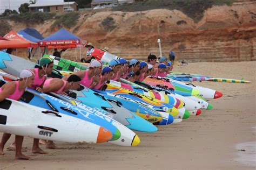
[(18, 11), (19, 6), (23, 3), (29, 3), (29, 0), (0, 0), (0, 13), (3, 13), (5, 9), (9, 9), (9, 1), (11, 10)]

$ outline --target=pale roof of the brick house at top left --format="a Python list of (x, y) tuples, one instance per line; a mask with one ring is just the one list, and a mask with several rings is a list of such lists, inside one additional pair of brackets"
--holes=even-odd
[(72, 5), (76, 4), (76, 2), (64, 2), (63, 0), (38, 0), (35, 4), (30, 4), (29, 8), (34, 8), (34, 7), (41, 7), (41, 6), (57, 6), (57, 5)]

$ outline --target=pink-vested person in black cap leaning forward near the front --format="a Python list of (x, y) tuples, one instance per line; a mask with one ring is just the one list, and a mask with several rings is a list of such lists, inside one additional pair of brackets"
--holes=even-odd
[[(77, 75), (70, 75), (67, 81), (58, 78), (47, 79), (44, 82), (42, 93), (65, 94), (69, 90), (77, 90), (80, 87), (80, 81), (81, 79)], [(58, 148), (51, 140), (48, 140), (48, 142), (41, 140), (40, 143), (46, 144), (46, 148)]]

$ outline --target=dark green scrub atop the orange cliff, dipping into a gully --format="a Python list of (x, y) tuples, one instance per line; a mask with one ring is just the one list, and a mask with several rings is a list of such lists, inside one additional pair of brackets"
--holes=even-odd
[(152, 9), (180, 10), (188, 17), (199, 22), (204, 16), (204, 11), (213, 5), (232, 5), (234, 0), (144, 0), (117, 6), (113, 11), (136, 12)]

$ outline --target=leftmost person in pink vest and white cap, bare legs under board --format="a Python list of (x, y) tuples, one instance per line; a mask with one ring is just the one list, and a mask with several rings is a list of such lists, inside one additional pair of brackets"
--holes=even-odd
[[(31, 72), (31, 70), (22, 70), (20, 74), (20, 79), (18, 81), (12, 81), (4, 84), (0, 88), (0, 102), (5, 100), (5, 98), (10, 98), (12, 100), (19, 100), (23, 95), (25, 89), (27, 87), (31, 87), (35, 78), (35, 74)], [(17, 113), (22, 114), (22, 113)], [(1, 144), (0, 144), (0, 154), (4, 155), (4, 145), (11, 137), (11, 134), (4, 133)], [(23, 136), (15, 136), (16, 140), (16, 153), (15, 159), (30, 159), (30, 157), (22, 154), (22, 143), (23, 143)]]

